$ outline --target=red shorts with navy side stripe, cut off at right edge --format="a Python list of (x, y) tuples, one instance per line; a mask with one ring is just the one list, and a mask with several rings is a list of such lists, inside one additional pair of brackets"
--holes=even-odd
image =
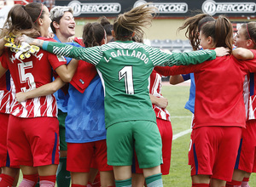
[(247, 173), (253, 172), (256, 151), (256, 120), (247, 121), (247, 128), (241, 131), (241, 144), (239, 146), (235, 169), (240, 169)]

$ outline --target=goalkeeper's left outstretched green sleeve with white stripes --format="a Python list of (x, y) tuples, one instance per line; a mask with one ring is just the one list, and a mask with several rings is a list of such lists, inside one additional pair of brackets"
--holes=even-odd
[(100, 46), (92, 48), (77, 48), (60, 42), (44, 42), (43, 49), (53, 54), (82, 59), (90, 64), (97, 65), (102, 59)]

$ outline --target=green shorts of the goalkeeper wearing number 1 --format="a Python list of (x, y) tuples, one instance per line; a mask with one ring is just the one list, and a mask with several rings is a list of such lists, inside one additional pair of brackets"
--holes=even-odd
[(108, 165), (131, 166), (136, 151), (140, 168), (162, 163), (162, 143), (155, 122), (119, 122), (107, 128)]

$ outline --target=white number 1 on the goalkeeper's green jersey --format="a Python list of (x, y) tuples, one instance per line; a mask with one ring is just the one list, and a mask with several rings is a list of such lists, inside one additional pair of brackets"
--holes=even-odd
[(125, 66), (119, 71), (119, 81), (125, 79), (125, 91), (126, 94), (134, 94), (133, 78), (132, 78), (132, 66)]

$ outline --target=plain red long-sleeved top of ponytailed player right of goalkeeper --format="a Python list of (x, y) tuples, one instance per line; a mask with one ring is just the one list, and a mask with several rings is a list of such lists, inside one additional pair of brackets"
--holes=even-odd
[[(255, 51), (253, 52), (256, 56)], [(243, 82), (247, 73), (256, 71), (256, 61), (234, 56), (217, 57), (200, 65), (172, 66), (162, 75), (195, 74), (195, 120), (193, 127), (245, 127), (246, 110)]]

